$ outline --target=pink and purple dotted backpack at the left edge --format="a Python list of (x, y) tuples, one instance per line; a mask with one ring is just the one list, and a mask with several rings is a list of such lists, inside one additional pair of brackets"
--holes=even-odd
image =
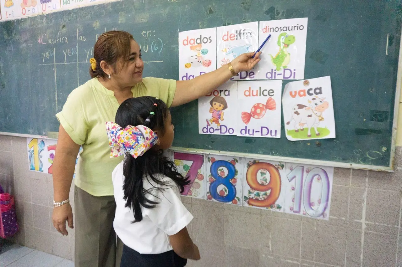
[(0, 186), (0, 237), (7, 238), (18, 232), (14, 196)]

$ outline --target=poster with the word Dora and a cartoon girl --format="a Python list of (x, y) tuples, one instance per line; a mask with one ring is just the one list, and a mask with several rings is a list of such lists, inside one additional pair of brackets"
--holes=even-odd
[(229, 81), (198, 99), (199, 134), (237, 134), (237, 81)]

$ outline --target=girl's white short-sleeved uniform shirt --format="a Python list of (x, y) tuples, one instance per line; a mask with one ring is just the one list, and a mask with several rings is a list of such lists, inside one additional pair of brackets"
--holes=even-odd
[(180, 192), (174, 181), (166, 176), (159, 176), (167, 186), (161, 186), (144, 178), (144, 189), (153, 187), (163, 188), (162, 191), (153, 190), (152, 194), (159, 199), (146, 195), (150, 200), (156, 200), (159, 204), (155, 208), (141, 206), (142, 220), (134, 221), (132, 208), (125, 207), (123, 199), (123, 162), (116, 166), (112, 173), (113, 190), (116, 200), (116, 214), (113, 226), (117, 236), (123, 243), (141, 254), (159, 254), (172, 250), (168, 235), (174, 235), (186, 227), (193, 215), (187, 210), (180, 199)]

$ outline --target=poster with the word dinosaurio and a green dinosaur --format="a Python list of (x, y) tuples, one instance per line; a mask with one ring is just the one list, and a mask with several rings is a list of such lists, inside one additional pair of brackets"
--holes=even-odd
[(304, 79), (306, 60), (307, 18), (260, 21), (259, 44), (265, 43), (261, 61), (256, 66), (256, 79)]

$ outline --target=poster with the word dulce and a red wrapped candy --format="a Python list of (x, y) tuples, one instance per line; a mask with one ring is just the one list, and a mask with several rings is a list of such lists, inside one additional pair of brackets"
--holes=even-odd
[(237, 85), (237, 136), (281, 137), (281, 81)]

